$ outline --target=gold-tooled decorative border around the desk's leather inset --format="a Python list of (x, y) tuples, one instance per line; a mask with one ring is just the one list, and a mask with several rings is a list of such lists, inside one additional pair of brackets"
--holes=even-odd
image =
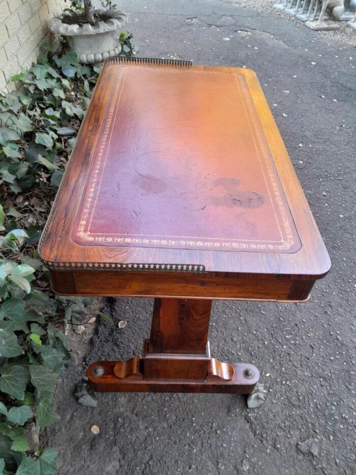
[[(110, 63), (112, 61), (108, 61)], [(116, 62), (116, 61), (115, 61)], [(126, 63), (126, 62), (124, 62)], [(134, 62), (136, 63), (136, 62)], [(125, 66), (125, 64), (123, 64)], [(130, 65), (131, 66), (131, 65)], [(169, 69), (169, 65), (167, 69)], [(144, 65), (139, 64), (139, 68), (144, 68)], [(155, 69), (153, 66), (147, 66), (147, 68)], [(159, 68), (157, 68), (159, 69)], [(188, 69), (190, 73), (202, 73), (202, 71), (194, 71)], [(203, 71), (203, 73), (207, 74), (231, 74), (226, 72), (215, 72), (215, 71)], [(92, 181), (90, 187), (86, 191), (85, 202), (82, 207), (80, 220), (78, 222), (77, 230), (74, 231), (73, 237), (75, 239), (76, 236), (80, 238), (80, 244), (100, 244), (100, 243), (117, 243), (118, 246), (121, 245), (158, 245), (161, 247), (185, 247), (185, 248), (206, 248), (206, 249), (214, 249), (214, 250), (228, 250), (229, 248), (234, 250), (288, 250), (295, 244), (295, 238), (293, 236), (291, 225), (289, 223), (289, 210), (287, 211), (285, 204), (282, 199), (283, 191), (280, 190), (280, 185), (278, 184), (277, 178), (277, 171), (275, 170), (272, 162), (271, 157), (269, 154), (268, 145), (265, 143), (265, 138), (261, 134), (261, 126), (259, 122), (256, 120), (256, 110), (253, 103), (252, 97), (250, 94), (241, 94), (242, 102), (244, 104), (246, 110), (246, 117), (248, 119), (249, 127), (251, 129), (251, 134), (254, 137), (255, 147), (257, 156), (261, 165), (261, 171), (265, 180), (266, 187), (269, 191), (271, 204), (273, 207), (273, 211), (276, 217), (277, 226), (281, 235), (280, 243), (275, 243), (275, 241), (251, 241), (251, 240), (238, 240), (238, 239), (219, 239), (219, 238), (212, 238), (214, 240), (210, 240), (211, 238), (194, 238), (194, 237), (186, 237), (186, 236), (147, 236), (147, 235), (129, 235), (129, 234), (112, 234), (112, 235), (105, 235), (105, 234), (98, 234), (98, 233), (91, 233), (90, 232), (90, 224), (94, 215), (95, 204), (97, 197), (100, 191), (100, 182), (101, 176), (104, 170), (104, 166), (102, 166), (102, 162), (104, 159), (105, 164), (105, 151), (106, 154), (108, 153), (110, 147), (110, 137), (113, 130), (113, 125), (115, 122), (115, 114), (117, 113), (118, 104), (120, 103), (120, 97), (124, 88), (124, 79), (126, 74), (126, 68), (118, 69), (118, 77), (117, 77), (117, 87), (115, 88), (112, 102), (108, 110), (108, 115), (105, 121), (104, 130), (102, 132), (102, 136), (99, 142), (99, 149), (97, 156), (94, 158), (94, 171), (92, 174)], [(246, 79), (241, 74), (234, 74), (236, 79), (236, 87), (239, 88), (241, 92), (243, 89), (248, 89)], [(263, 170), (263, 164), (265, 170)], [(101, 172), (101, 174), (100, 174)], [(265, 173), (266, 172), (266, 173)], [(98, 186), (99, 183), (99, 186)], [(272, 199), (272, 195), (274, 196), (275, 201)], [(96, 196), (96, 198), (95, 198)], [(277, 210), (276, 210), (276, 207)], [(277, 213), (279, 215), (277, 216)], [(291, 216), (290, 216), (290, 219)], [(281, 229), (282, 228), (282, 229)], [(298, 236), (298, 233), (293, 227)], [(162, 239), (168, 238), (168, 239)], [(178, 239), (170, 239), (170, 238), (178, 238)], [(181, 238), (181, 239), (179, 239)], [(185, 238), (185, 239), (182, 239)], [(237, 242), (243, 241), (243, 242)], [(296, 237), (296, 241), (300, 244), (299, 237)], [(299, 246), (300, 248), (300, 246)], [(297, 252), (298, 249), (293, 250), (292, 252)]]

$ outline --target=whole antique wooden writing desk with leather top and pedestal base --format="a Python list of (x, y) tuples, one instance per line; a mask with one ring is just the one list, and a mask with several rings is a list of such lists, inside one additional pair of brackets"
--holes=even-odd
[(39, 250), (58, 294), (155, 298), (142, 356), (88, 369), (105, 392), (250, 393), (212, 300), (303, 301), (330, 267), (255, 73), (165, 60), (106, 62)]

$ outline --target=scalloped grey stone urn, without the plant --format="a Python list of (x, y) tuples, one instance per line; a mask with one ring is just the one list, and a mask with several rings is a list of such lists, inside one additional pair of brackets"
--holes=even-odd
[(117, 41), (120, 29), (127, 22), (127, 14), (114, 10), (94, 10), (95, 18), (99, 20), (91, 25), (84, 23), (69, 24), (68, 17), (71, 13), (48, 20), (48, 29), (51, 33), (71, 38), (71, 51), (78, 54), (80, 63), (96, 64), (103, 62), (110, 56), (117, 56), (121, 51), (121, 45)]

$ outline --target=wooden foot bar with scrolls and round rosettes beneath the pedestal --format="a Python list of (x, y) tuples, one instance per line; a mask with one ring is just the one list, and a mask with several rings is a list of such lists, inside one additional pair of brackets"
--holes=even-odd
[[(230, 365), (215, 358), (211, 360), (205, 381), (144, 380), (142, 369), (142, 359), (138, 357), (129, 361), (96, 361), (88, 368), (87, 377), (91, 388), (99, 393), (249, 394), (259, 379), (259, 372), (253, 365)], [(124, 377), (117, 377), (118, 374)], [(224, 379), (230, 376), (231, 379)]]

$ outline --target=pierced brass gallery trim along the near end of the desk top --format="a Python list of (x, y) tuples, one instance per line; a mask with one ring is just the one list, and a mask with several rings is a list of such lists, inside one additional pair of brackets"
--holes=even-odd
[(41, 262), (51, 270), (116, 270), (121, 272), (188, 272), (206, 273), (201, 264), (138, 264), (116, 262), (53, 262), (41, 259)]

